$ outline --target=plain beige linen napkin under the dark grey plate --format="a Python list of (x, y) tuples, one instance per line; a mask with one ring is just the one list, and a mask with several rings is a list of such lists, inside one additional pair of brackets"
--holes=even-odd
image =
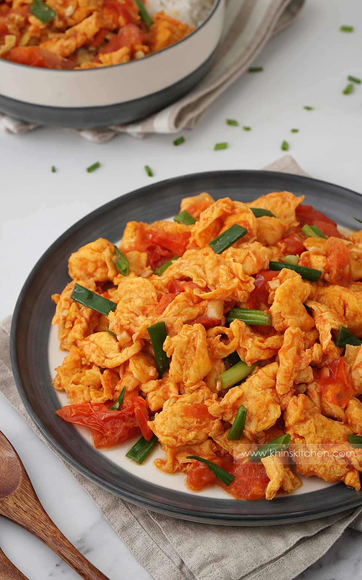
[[(307, 175), (290, 155), (265, 169)], [(10, 325), (10, 316), (0, 324), (0, 391), (45, 441), (16, 389)], [(323, 556), (346, 527), (362, 531), (362, 507), (320, 520), (266, 527), (177, 520), (123, 501), (63, 463), (155, 580), (292, 580)]]

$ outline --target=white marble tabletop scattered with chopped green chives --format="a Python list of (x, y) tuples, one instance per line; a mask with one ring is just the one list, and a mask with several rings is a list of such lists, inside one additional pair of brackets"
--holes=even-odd
[[(354, 24), (353, 34), (339, 32)], [(362, 77), (362, 4), (308, 0), (304, 12), (259, 56), (262, 74), (244, 75), (173, 147), (172, 136), (122, 136), (97, 146), (71, 131), (0, 133), (0, 317), (13, 310), (25, 277), (58, 235), (97, 206), (154, 180), (210, 169), (258, 169), (280, 157), (283, 139), (311, 175), (362, 191), (362, 85), (342, 95), (348, 74)], [(304, 105), (315, 107), (303, 110)], [(239, 119), (253, 130), (225, 125)], [(292, 127), (300, 132), (290, 133)], [(213, 151), (227, 140), (226, 151)], [(86, 166), (99, 160), (92, 173)], [(57, 173), (50, 173), (56, 165)], [(0, 396), (0, 428), (17, 448), (45, 509), (65, 535), (111, 580), (151, 578), (93, 501)], [(78, 576), (27, 532), (0, 519), (0, 546), (30, 580)], [(348, 530), (299, 580), (360, 578), (362, 534)], [(165, 575), (165, 578), (167, 576)]]

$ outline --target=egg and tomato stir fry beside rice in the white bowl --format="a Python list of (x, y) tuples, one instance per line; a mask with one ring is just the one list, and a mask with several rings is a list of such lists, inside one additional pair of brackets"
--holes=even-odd
[(0, 57), (45, 68), (127, 63), (192, 32), (143, 0), (0, 0)]

